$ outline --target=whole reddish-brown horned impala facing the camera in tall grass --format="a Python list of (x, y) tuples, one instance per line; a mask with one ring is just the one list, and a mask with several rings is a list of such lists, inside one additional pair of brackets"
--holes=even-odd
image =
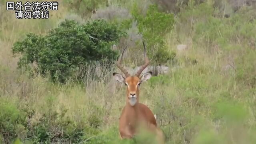
[(126, 89), (126, 105), (122, 110), (121, 117), (119, 119), (119, 134), (121, 139), (123, 138), (133, 138), (135, 134), (138, 133), (138, 128), (140, 126), (146, 126), (146, 130), (156, 134), (158, 142), (164, 143), (164, 136), (160, 128), (157, 127), (156, 118), (148, 106), (139, 102), (140, 94), (140, 84), (150, 79), (152, 72), (146, 72), (145, 74), (140, 74), (148, 66), (149, 60), (146, 56), (146, 46), (143, 42), (144, 47), (144, 58), (145, 64), (140, 67), (135, 76), (130, 76), (128, 70), (121, 66), (122, 56), (127, 46), (122, 51), (116, 65), (124, 73), (125, 78), (114, 72), (113, 76), (117, 82), (125, 84)]

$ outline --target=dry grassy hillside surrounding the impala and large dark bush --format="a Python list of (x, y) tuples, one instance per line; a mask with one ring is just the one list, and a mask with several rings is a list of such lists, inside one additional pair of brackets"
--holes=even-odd
[[(175, 0), (61, 0), (58, 11), (50, 11), (49, 19), (25, 20), (16, 19), (14, 11), (6, 11), (6, 1), (0, 1), (2, 144), (14, 140), (24, 144), (153, 142), (147, 135), (139, 136), (136, 142), (119, 138), (125, 87), (112, 78), (113, 72), (120, 72), (115, 65), (109, 70), (92, 62), (81, 81), (65, 84), (25, 70), (25, 66), (18, 68), (21, 55), (13, 56), (12, 48), (26, 34), (46, 36), (65, 19), (86, 24), (98, 18), (127, 32), (127, 37), (116, 43), (117, 50), (128, 45), (127, 67), (142, 64), (143, 37), (152, 64), (176, 68), (141, 86), (140, 102), (156, 114), (166, 143), (256, 142), (253, 3), (235, 7), (232, 1), (218, 0), (185, 0), (176, 5)], [(157, 5), (150, 7), (152, 4)], [(178, 50), (179, 44), (187, 48)]]

